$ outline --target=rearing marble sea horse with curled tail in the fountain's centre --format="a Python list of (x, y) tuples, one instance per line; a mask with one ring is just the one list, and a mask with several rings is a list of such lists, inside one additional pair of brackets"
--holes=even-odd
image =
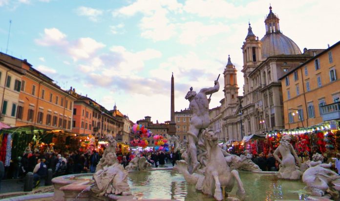
[(236, 195), (241, 200), (245, 197), (243, 183), (239, 178), (237, 170), (231, 170), (226, 160), (224, 152), (218, 146), (217, 134), (212, 129), (204, 129), (201, 133), (204, 146), (207, 150), (207, 163), (204, 174), (193, 173), (188, 171), (188, 163), (184, 160), (177, 161), (174, 167), (184, 175), (186, 181), (194, 184), (197, 190), (204, 194), (212, 195), (217, 201), (221, 201), (230, 192), (234, 183), (237, 183)]

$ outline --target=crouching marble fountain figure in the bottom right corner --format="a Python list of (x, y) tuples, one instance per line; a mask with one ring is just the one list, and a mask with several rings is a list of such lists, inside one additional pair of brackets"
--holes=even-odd
[(340, 175), (329, 169), (332, 163), (323, 164), (323, 156), (316, 153), (309, 163), (310, 167), (303, 173), (302, 181), (312, 191), (312, 196), (324, 196), (326, 193), (332, 199), (338, 200), (339, 192), (333, 188), (333, 181), (340, 179)]

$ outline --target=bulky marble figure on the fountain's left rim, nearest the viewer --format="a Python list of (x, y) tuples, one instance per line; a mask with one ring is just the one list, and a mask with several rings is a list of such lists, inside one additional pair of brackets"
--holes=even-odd
[(103, 163), (98, 165), (97, 172), (93, 174), (95, 184), (90, 188), (92, 192), (98, 197), (108, 194), (131, 195), (127, 183), (128, 172), (117, 162), (114, 152), (106, 153)]

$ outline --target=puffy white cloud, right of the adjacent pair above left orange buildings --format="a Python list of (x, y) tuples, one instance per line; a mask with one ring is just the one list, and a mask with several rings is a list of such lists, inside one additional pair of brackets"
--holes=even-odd
[(89, 58), (97, 50), (104, 48), (106, 45), (97, 42), (90, 37), (79, 38), (74, 45), (68, 49), (68, 53), (71, 55), (74, 61), (80, 58)]

